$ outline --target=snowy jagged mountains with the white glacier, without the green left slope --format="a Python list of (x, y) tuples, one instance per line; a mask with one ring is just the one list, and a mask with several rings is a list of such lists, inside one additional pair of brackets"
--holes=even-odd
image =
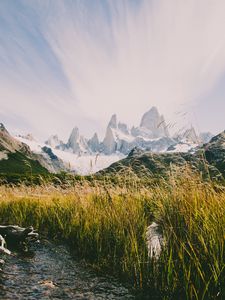
[(97, 133), (90, 139), (85, 138), (78, 127), (72, 129), (67, 142), (63, 142), (58, 135), (50, 136), (45, 145), (30, 138), (31, 135), (18, 138), (41, 155), (41, 163), (49, 171), (69, 169), (78, 174), (89, 174), (124, 158), (134, 148), (151, 152), (194, 152), (210, 137), (210, 133), (198, 136), (192, 126), (171, 136), (164, 116), (156, 107), (148, 110), (139, 124), (130, 128), (113, 114), (102, 141)]

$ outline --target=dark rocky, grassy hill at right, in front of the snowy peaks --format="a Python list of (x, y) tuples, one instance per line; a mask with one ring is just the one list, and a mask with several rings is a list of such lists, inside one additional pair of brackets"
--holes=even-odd
[(194, 153), (154, 153), (133, 149), (119, 162), (99, 172), (100, 174), (134, 173), (139, 177), (170, 177), (171, 172), (190, 168), (203, 177), (224, 180), (225, 178), (225, 131), (213, 137)]

